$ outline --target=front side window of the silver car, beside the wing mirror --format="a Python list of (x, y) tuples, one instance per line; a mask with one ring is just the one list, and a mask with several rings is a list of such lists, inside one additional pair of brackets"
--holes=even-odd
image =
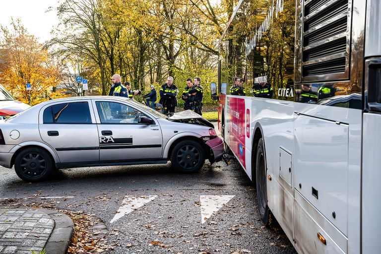
[(139, 118), (146, 116), (122, 103), (97, 101), (95, 104), (102, 124), (138, 124)]

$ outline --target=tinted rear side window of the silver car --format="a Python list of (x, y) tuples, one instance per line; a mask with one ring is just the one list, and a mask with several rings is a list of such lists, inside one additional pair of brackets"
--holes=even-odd
[(71, 102), (50, 106), (44, 111), (44, 124), (91, 124), (89, 104)]

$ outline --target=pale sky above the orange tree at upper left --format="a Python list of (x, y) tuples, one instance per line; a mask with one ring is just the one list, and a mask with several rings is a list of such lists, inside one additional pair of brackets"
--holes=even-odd
[(50, 6), (57, 7), (58, 0), (0, 0), (0, 24), (10, 27), (11, 17), (20, 18), (27, 31), (44, 43), (59, 22), (55, 8), (46, 13)]

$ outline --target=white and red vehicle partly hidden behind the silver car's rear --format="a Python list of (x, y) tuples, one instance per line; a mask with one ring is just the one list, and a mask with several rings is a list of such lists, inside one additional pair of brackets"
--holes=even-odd
[(13, 96), (0, 85), (0, 117), (10, 117), (29, 108), (29, 105), (17, 101)]

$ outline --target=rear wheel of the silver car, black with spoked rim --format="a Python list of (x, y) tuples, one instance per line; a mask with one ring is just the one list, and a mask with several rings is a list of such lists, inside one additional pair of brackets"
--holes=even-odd
[(50, 154), (41, 148), (27, 148), (14, 160), (14, 170), (19, 178), (26, 182), (38, 182), (46, 179), (53, 171)]

